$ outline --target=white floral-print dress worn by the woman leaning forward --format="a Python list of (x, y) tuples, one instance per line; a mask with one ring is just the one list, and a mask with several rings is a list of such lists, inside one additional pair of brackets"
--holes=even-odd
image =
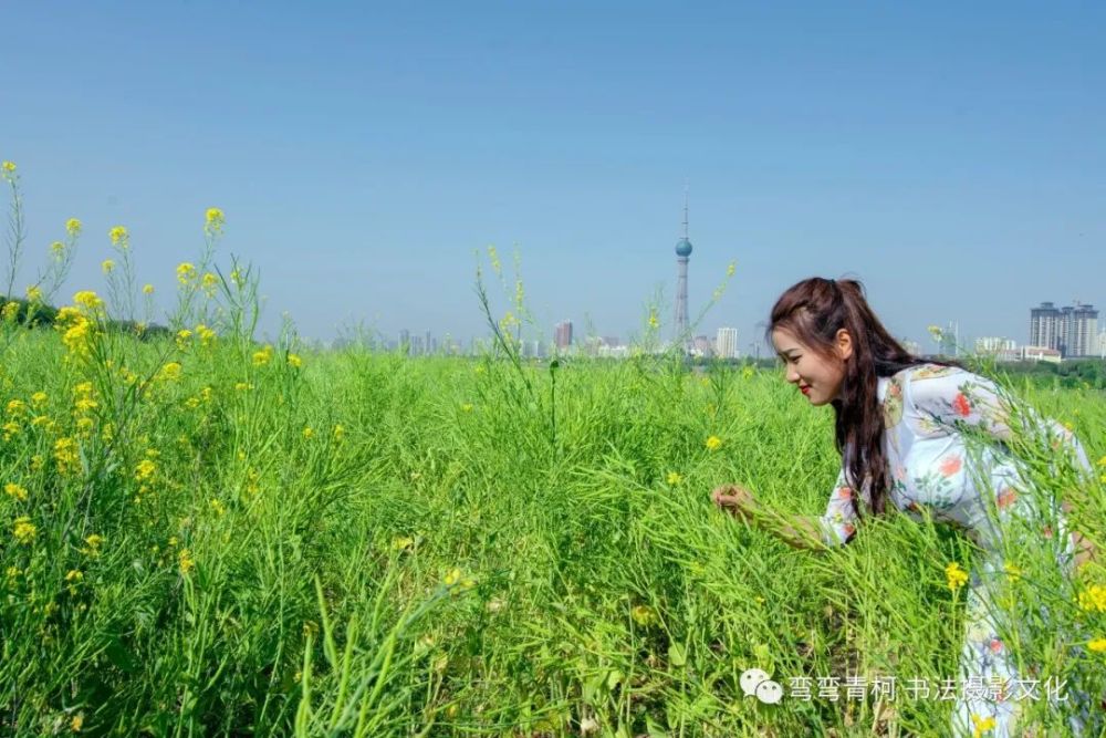
[[(880, 377), (878, 396), (890, 472), (888, 500), (914, 519), (928, 516), (962, 529), (983, 550), (968, 589), (968, 632), (960, 655), (953, 734), (980, 735), (985, 728), (989, 736), (1018, 735), (1019, 703), (1005, 689), (987, 688), (1018, 678), (991, 604), (992, 585), (1009, 571), (1001, 555), (1003, 521), (1010, 516), (1039, 521), (1034, 530), (1041, 531), (1041, 541), (1051, 542), (1057, 563), (1070, 572), (1074, 548), (1058, 503), (1042, 514), (1023, 493), (1026, 488), (1019, 467), (1005, 450), (1014, 405), (991, 381), (958, 367), (921, 364)], [(1066, 445), (1079, 466), (1091, 468), (1071, 432), (1032, 418), (1054, 439), (1054, 448)], [(975, 436), (989, 443), (971, 443)], [(843, 469), (821, 519), (827, 545), (845, 543), (855, 533), (856, 493)], [(866, 486), (860, 501), (869, 501)], [(1074, 729), (1079, 727), (1073, 724)]]

